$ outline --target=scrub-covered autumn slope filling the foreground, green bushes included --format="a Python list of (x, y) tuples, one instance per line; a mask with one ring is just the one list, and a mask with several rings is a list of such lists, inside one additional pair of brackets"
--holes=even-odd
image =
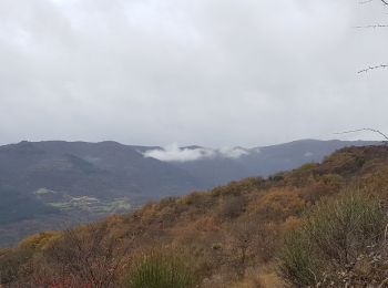
[[(11, 287), (384, 287), (388, 147), (149, 203), (0, 250)], [(143, 286), (142, 286), (143, 285)]]

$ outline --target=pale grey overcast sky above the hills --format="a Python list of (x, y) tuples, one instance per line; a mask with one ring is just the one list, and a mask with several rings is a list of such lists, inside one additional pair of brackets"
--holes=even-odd
[[(1, 0), (0, 143), (388, 133), (378, 0)], [(368, 133), (343, 138), (375, 138)]]

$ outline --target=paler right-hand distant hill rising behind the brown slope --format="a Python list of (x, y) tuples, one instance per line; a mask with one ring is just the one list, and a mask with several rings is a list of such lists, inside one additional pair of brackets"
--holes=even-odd
[[(269, 176), (288, 171), (308, 162), (321, 162), (325, 156), (346, 146), (375, 145), (378, 142), (365, 141), (317, 141), (302, 140), (285, 144), (242, 148), (241, 156), (204, 157), (190, 162), (171, 162), (191, 175), (201, 178), (210, 186), (222, 185), (248, 176)], [(233, 150), (229, 150), (233, 152)]]

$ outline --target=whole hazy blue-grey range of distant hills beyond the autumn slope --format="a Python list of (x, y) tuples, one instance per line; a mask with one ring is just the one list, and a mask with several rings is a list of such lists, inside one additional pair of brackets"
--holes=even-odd
[(296, 141), (255, 148), (162, 148), (116, 142), (0, 146), (0, 245), (58, 225), (126, 212), (149, 199), (207, 189), (319, 162), (374, 142)]

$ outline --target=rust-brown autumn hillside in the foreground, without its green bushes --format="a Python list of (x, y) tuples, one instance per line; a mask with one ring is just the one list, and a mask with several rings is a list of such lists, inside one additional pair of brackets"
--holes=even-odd
[[(130, 214), (34, 235), (1, 250), (2, 281), (63, 284), (71, 278), (78, 285), (125, 286), (136, 263), (156, 250), (190, 263), (201, 287), (283, 287), (277, 259), (285, 235), (304, 225), (306, 213), (346, 191), (378, 197), (385, 209), (387, 173), (387, 146), (347, 147), (321, 164), (166, 197)], [(93, 272), (98, 278), (90, 277)]]

